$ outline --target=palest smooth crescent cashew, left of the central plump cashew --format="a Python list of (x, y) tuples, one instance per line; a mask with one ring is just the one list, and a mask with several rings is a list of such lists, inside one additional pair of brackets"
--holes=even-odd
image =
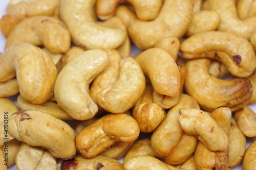
[(88, 50), (68, 62), (57, 77), (54, 95), (58, 105), (78, 120), (92, 118), (98, 111), (89, 95), (89, 85), (109, 64), (103, 50)]

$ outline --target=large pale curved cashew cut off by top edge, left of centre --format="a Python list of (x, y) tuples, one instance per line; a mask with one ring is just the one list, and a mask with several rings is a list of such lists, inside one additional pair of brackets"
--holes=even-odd
[(96, 0), (61, 1), (60, 17), (68, 26), (76, 45), (87, 50), (114, 49), (123, 43), (126, 31), (97, 25), (90, 12), (95, 2)]

